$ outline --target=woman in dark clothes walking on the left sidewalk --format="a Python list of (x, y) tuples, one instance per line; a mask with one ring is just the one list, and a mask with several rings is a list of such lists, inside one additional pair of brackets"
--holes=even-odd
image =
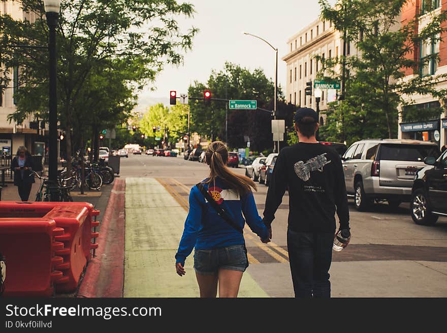
[(14, 172), (14, 185), (18, 188), (20, 200), (28, 201), (31, 187), (36, 180), (32, 173), (33, 157), (25, 146), (21, 145), (17, 149), (17, 155), (11, 163), (11, 170)]

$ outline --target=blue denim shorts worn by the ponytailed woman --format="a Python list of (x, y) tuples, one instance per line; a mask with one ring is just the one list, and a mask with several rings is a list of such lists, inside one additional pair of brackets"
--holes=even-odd
[(217, 275), (219, 269), (245, 272), (247, 267), (244, 244), (194, 251), (194, 269), (200, 275)]

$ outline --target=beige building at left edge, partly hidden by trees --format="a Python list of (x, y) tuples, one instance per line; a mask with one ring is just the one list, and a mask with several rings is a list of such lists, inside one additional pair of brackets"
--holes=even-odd
[[(6, 0), (0, 2), (0, 15), (10, 15), (16, 20), (35, 20), (34, 13), (24, 12), (19, 2)], [(2, 64), (0, 64), (1, 66)], [(34, 155), (44, 155), (45, 129), (42, 122), (36, 122), (34, 115), (23, 123), (17, 124), (8, 120), (8, 115), (16, 111), (14, 93), (20, 88), (20, 67), (9, 70), (9, 83), (0, 87), (0, 160), (1, 165), (7, 165), (8, 159), (15, 155), (19, 146), (24, 145)], [(32, 127), (32, 128), (31, 128)]]

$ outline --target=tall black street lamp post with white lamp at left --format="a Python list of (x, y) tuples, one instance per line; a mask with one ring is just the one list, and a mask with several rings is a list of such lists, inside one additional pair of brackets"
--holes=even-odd
[[(48, 138), (48, 179), (57, 183), (57, 66), (56, 66), (56, 26), (60, 10), (60, 0), (44, 0), (49, 39), (49, 138)], [(57, 191), (52, 191), (51, 200), (58, 201)]]

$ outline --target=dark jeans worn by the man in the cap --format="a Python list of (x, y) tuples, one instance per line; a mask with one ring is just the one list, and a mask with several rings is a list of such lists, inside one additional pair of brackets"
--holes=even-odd
[(333, 233), (287, 231), (290, 270), (296, 298), (329, 298)]

